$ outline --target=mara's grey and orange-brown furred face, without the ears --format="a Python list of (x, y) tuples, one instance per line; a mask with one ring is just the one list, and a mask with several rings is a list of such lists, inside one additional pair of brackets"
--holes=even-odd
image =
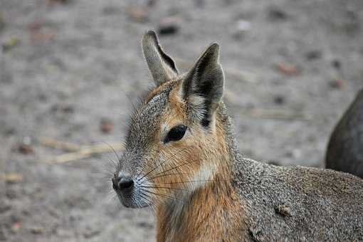
[(124, 206), (177, 199), (211, 178), (213, 167), (207, 162), (218, 149), (216, 134), (187, 115), (188, 107), (179, 98), (180, 83), (171, 81), (153, 90), (132, 114), (125, 154), (115, 172), (115, 180), (133, 181), (126, 191), (116, 184)]

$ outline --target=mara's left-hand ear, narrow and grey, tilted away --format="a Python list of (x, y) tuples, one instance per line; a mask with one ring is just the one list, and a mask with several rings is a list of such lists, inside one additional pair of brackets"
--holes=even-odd
[(157, 85), (162, 85), (162, 83), (178, 75), (174, 61), (164, 53), (154, 31), (147, 31), (144, 34), (142, 38), (142, 51), (152, 73), (152, 78)]

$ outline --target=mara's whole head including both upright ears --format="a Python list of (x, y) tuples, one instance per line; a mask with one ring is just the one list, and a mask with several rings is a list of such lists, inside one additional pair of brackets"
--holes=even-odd
[(223, 70), (219, 46), (212, 43), (183, 75), (159, 45), (153, 31), (142, 51), (155, 87), (130, 117), (125, 153), (113, 189), (127, 207), (159, 204), (194, 191), (214, 178), (226, 155)]

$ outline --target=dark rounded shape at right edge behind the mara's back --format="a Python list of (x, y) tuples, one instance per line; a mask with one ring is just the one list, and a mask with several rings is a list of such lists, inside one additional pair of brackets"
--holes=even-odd
[(363, 178), (363, 89), (332, 132), (326, 167)]

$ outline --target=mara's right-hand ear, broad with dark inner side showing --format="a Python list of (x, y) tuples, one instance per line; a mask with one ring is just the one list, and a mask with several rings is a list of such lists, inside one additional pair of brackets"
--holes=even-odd
[(219, 63), (219, 45), (212, 43), (186, 74), (181, 97), (201, 117), (201, 125), (209, 126), (223, 96), (224, 75)]

